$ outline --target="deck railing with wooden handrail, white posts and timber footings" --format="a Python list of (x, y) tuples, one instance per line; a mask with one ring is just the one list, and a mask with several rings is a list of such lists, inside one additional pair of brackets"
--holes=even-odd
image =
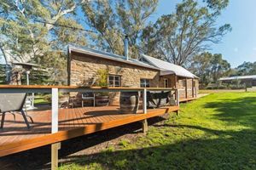
[[(143, 113), (147, 114), (147, 91), (174, 91), (176, 105), (179, 105), (179, 90), (175, 88), (101, 88), (101, 87), (77, 87), (77, 86), (40, 86), (40, 85), (0, 85), (0, 93), (41, 93), (51, 94), (51, 133), (58, 133), (58, 113), (59, 113), (59, 92), (134, 92), (140, 91), (143, 93)], [(143, 120), (143, 131), (147, 129), (147, 119)], [(58, 166), (58, 144), (52, 144), (52, 160), (51, 167), (56, 169)]]

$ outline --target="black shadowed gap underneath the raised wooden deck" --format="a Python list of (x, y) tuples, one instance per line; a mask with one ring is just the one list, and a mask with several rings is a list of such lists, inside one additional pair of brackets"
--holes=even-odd
[[(166, 120), (164, 117), (157, 116), (148, 119), (148, 125), (159, 123)], [(69, 139), (61, 142), (61, 150), (59, 157), (66, 158), (67, 156), (76, 153), (80, 150), (85, 150), (96, 144), (102, 144), (112, 139), (117, 139), (121, 136), (131, 133), (141, 133), (142, 123), (134, 122), (121, 127), (113, 127), (101, 132), (84, 135), (75, 139)], [(1, 139), (1, 137), (0, 137)], [(50, 168), (50, 145), (40, 148), (22, 151), (10, 156), (0, 158), (1, 170), (27, 170), (27, 169), (49, 169)]]

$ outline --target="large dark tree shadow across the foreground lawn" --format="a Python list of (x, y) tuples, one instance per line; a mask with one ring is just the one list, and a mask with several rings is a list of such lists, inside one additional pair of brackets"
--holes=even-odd
[[(222, 133), (207, 128), (204, 130)], [(90, 156), (69, 158), (79, 166), (100, 163), (106, 169), (255, 169), (255, 132), (243, 130), (230, 134), (233, 136), (189, 139), (175, 144), (137, 150), (107, 150)]]

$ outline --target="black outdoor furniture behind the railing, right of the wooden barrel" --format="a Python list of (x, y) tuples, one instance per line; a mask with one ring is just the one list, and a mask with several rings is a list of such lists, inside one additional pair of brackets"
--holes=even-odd
[(148, 108), (159, 108), (161, 106), (168, 105), (170, 102), (171, 93), (170, 92), (147, 92), (147, 107)]

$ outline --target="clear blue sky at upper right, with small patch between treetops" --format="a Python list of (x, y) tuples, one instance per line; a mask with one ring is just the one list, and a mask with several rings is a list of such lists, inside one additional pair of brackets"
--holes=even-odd
[[(150, 20), (162, 14), (170, 14), (181, 0), (160, 0), (156, 13)], [(256, 0), (230, 0), (230, 4), (218, 19), (218, 25), (228, 23), (232, 31), (219, 44), (212, 45), (212, 53), (223, 54), (232, 67), (244, 61), (256, 61)]]

